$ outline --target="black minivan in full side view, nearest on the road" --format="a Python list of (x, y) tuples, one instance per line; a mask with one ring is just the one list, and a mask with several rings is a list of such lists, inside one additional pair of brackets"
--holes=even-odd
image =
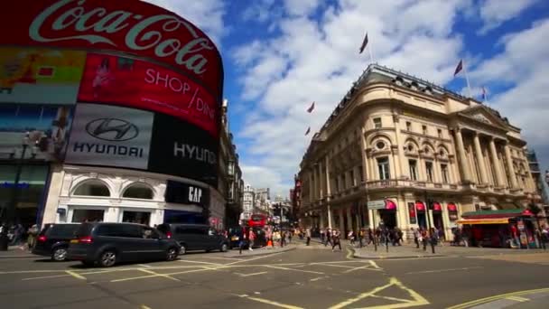
[(112, 267), (118, 262), (165, 259), (179, 255), (177, 241), (135, 223), (82, 223), (70, 240), (68, 258), (84, 265)]

